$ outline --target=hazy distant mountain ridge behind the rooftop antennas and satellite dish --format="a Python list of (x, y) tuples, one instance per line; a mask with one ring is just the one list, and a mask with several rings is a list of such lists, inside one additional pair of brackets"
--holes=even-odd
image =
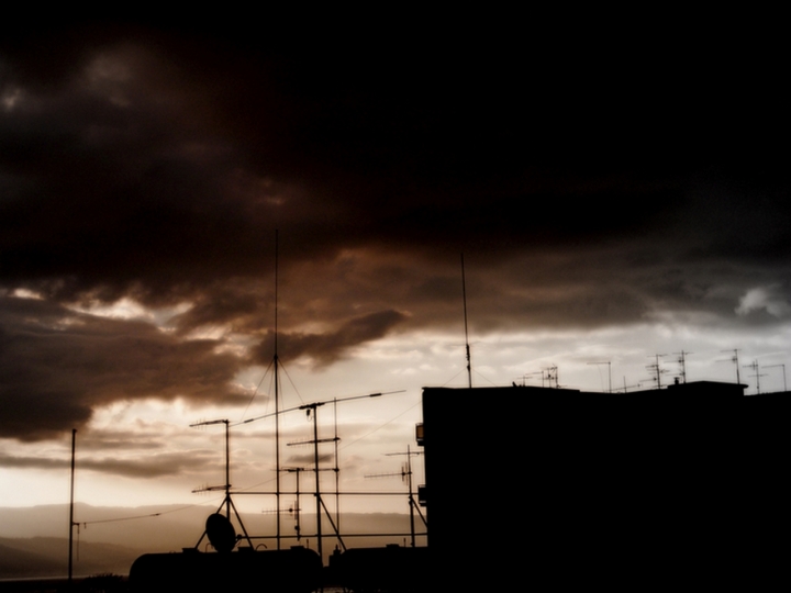
[[(138, 556), (151, 552), (180, 551), (193, 547), (203, 534), (205, 518), (216, 511), (215, 506), (142, 506), (94, 507), (86, 504), (75, 506), (75, 518), (80, 523), (75, 529), (74, 573), (90, 575), (101, 573), (126, 574)], [(275, 533), (275, 516), (243, 514), (242, 521), (250, 536)], [(422, 522), (416, 530), (424, 530)], [(234, 521), (236, 524), (236, 521)], [(281, 521), (283, 536), (294, 533), (294, 519), (285, 515)], [(302, 517), (302, 533), (314, 532), (313, 516)], [(238, 530), (238, 529), (237, 529)], [(408, 545), (403, 535), (376, 537), (375, 534), (409, 533), (409, 515), (398, 513), (345, 513), (341, 515), (342, 535), (370, 534), (365, 537), (344, 539), (347, 547)], [(325, 535), (328, 533), (325, 529)], [(256, 540), (269, 548), (271, 540)], [(207, 546), (205, 539), (201, 548)], [(296, 545), (296, 539), (285, 539), (285, 546)], [(299, 541), (315, 548), (314, 538)], [(325, 550), (336, 541), (325, 539)], [(419, 540), (425, 545), (425, 538)], [(0, 507), (0, 579), (64, 577), (68, 572), (68, 505), (42, 505), (32, 507)]]

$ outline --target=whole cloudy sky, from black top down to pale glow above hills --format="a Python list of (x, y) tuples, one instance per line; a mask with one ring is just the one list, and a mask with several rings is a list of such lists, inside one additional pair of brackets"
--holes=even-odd
[[(0, 36), (0, 505), (68, 500), (73, 428), (80, 501), (214, 504), (223, 429), (189, 425), (271, 414), (276, 320), (280, 407), (387, 392), (319, 424), (344, 488), (403, 490), (366, 475), (415, 449), (422, 387), (467, 384), (461, 256), (475, 385), (633, 391), (683, 353), (783, 389), (776, 48), (397, 24)], [(282, 430), (310, 463), (311, 418)], [(234, 488), (272, 489), (271, 418), (231, 434)]]

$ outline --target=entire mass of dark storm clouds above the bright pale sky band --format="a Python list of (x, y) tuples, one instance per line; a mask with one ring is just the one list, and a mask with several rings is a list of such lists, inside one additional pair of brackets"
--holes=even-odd
[[(2, 301), (2, 432), (227, 394), (243, 361), (181, 340), (218, 326), (270, 358), (276, 228), (281, 354), (319, 363), (458, 324), (460, 251), (483, 331), (787, 315), (789, 125), (765, 61), (491, 31), (345, 48), (237, 22), (3, 35), (0, 287), (45, 301)], [(124, 296), (188, 306), (170, 335), (55, 304)]]

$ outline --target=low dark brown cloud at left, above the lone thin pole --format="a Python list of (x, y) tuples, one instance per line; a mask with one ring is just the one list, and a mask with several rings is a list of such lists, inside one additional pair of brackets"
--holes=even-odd
[(242, 403), (241, 368), (214, 340), (179, 340), (135, 321), (32, 299), (0, 299), (0, 433), (36, 439), (79, 427), (92, 409), (144, 398)]

